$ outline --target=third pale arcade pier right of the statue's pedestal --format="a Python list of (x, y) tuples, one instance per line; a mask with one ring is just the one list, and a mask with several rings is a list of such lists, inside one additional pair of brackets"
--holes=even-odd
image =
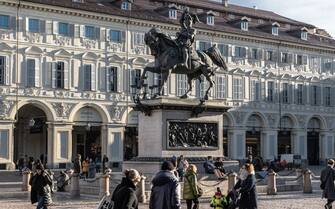
[(307, 132), (306, 130), (293, 130), (292, 132), (292, 152), (301, 155), (301, 159), (307, 159)]

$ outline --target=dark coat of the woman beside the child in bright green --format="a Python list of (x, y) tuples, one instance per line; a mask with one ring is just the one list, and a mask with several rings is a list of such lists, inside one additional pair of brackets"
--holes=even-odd
[(256, 177), (249, 174), (245, 180), (239, 180), (234, 189), (239, 189), (241, 199), (239, 209), (257, 209)]

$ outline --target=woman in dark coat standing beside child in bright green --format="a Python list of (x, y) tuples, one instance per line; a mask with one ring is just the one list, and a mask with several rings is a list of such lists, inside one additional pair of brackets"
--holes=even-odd
[(234, 189), (241, 194), (239, 209), (257, 209), (256, 177), (252, 164), (247, 163), (242, 167)]

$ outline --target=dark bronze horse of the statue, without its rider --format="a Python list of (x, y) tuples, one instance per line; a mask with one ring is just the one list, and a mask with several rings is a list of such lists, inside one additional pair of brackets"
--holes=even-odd
[(152, 28), (145, 34), (144, 41), (150, 47), (151, 54), (155, 57), (155, 66), (144, 68), (140, 84), (143, 87), (147, 72), (161, 74), (161, 82), (158, 86), (159, 94), (162, 92), (164, 83), (170, 73), (187, 75), (188, 90), (180, 98), (187, 98), (188, 93), (192, 91), (192, 80), (200, 80), (200, 76), (204, 75), (209, 87), (203, 99), (208, 100), (208, 93), (214, 85), (211, 77), (214, 75), (215, 65), (227, 70), (227, 65), (220, 50), (215, 45), (205, 51), (193, 50), (190, 56), (191, 65), (189, 66), (191, 67), (188, 69), (180, 64), (180, 49), (177, 43), (169, 36), (161, 33), (159, 29)]

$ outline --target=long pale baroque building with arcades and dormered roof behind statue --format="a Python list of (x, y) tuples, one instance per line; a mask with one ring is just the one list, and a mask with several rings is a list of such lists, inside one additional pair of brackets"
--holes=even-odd
[[(204, 3), (205, 2), (205, 3)], [(137, 154), (131, 108), (141, 69), (154, 57), (151, 27), (175, 37), (181, 11), (196, 25), (194, 47), (216, 44), (229, 71), (217, 69), (210, 99), (230, 107), (224, 153), (270, 160), (300, 155), (319, 164), (335, 154), (335, 41), (326, 31), (228, 1), (0, 0), (0, 165), (19, 158), (65, 168), (76, 154), (111, 166)], [(147, 78), (149, 94), (159, 75)], [(206, 82), (195, 81), (201, 98)], [(171, 75), (165, 96), (182, 95)]]

